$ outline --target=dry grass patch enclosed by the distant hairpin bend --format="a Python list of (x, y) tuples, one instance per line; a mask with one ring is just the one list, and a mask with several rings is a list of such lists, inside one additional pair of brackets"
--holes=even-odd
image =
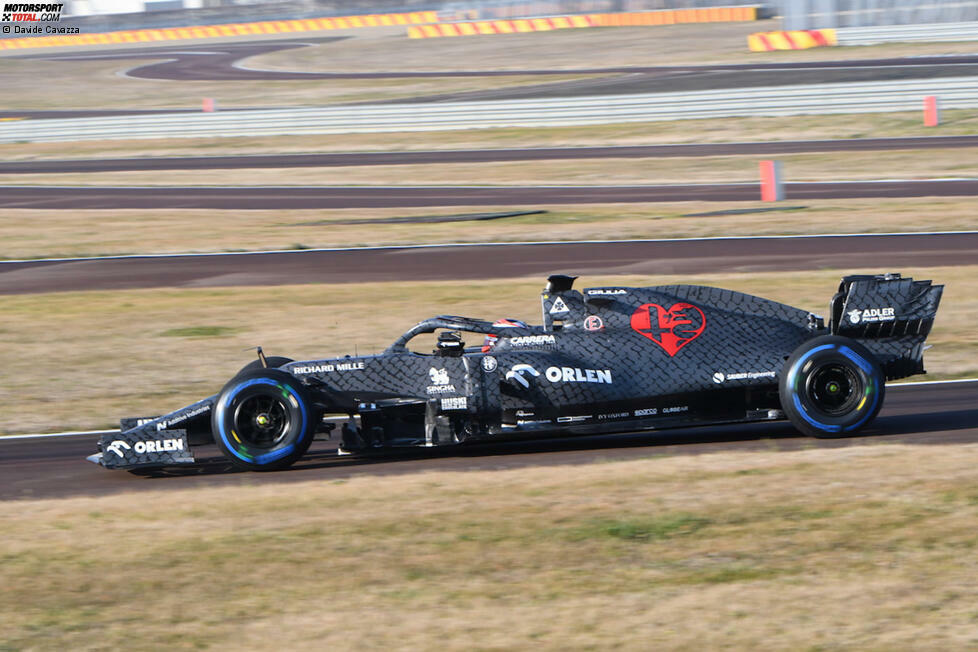
[[(751, 52), (747, 35), (781, 29), (778, 20), (747, 23), (556, 30), (505, 36), (407, 40), (356, 38), (311, 50), (260, 55), (249, 66), (265, 70), (525, 70), (675, 66), (726, 63), (840, 61), (905, 56), (974, 54), (974, 43), (890, 43), (866, 47)], [(396, 48), (397, 56), (391, 52)]]

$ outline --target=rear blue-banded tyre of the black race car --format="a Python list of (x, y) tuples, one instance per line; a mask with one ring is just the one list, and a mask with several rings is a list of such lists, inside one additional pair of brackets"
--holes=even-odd
[(779, 393), (792, 425), (814, 437), (845, 437), (876, 418), (886, 378), (875, 356), (847, 337), (823, 335), (785, 362)]

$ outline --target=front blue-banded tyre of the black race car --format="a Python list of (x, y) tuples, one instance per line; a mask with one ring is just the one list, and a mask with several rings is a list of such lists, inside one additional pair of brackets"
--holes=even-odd
[(214, 442), (234, 466), (284, 469), (302, 457), (319, 414), (306, 388), (278, 369), (244, 371), (231, 379), (211, 412)]

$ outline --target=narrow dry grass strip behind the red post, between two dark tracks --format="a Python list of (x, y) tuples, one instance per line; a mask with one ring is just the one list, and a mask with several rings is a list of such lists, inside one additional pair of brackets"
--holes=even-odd
[[(790, 181), (933, 179), (978, 176), (978, 148), (781, 154)], [(7, 185), (415, 186), (643, 185), (757, 182), (761, 157), (605, 158), (572, 161), (434, 163), (325, 168), (154, 170), (83, 174), (0, 174)], [(436, 181), (433, 181), (436, 180)]]

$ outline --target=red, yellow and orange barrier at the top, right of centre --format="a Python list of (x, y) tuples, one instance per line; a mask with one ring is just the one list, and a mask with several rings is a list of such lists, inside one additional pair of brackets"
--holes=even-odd
[(549, 32), (555, 29), (583, 27), (644, 27), (681, 23), (729, 23), (757, 20), (759, 7), (709, 7), (702, 9), (665, 9), (661, 11), (627, 11), (610, 14), (580, 14), (509, 20), (473, 20), (438, 25), (408, 27), (410, 38), (445, 36), (480, 36), (486, 34), (519, 34)]

